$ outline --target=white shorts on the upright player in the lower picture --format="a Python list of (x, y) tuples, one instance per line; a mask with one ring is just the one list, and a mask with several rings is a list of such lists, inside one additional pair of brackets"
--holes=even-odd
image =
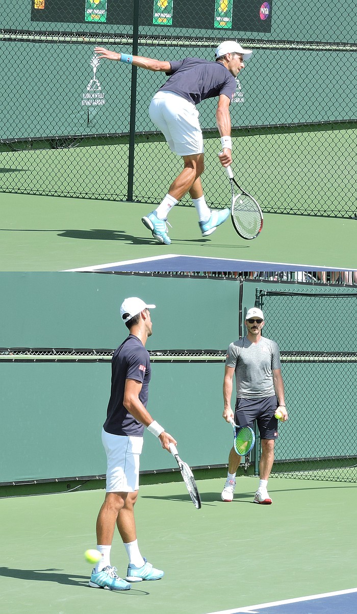
[(134, 492), (139, 489), (139, 461), (144, 438), (112, 435), (102, 429), (107, 454), (107, 492)]

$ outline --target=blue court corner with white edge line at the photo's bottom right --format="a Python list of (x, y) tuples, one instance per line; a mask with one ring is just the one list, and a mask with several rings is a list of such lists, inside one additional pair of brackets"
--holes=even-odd
[(286, 599), (270, 604), (249, 605), (237, 610), (220, 610), (209, 614), (356, 614), (357, 588), (335, 593), (311, 595), (298, 599)]

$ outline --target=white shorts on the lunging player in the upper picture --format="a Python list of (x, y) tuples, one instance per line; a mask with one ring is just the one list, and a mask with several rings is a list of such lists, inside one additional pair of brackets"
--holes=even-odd
[(158, 91), (150, 103), (149, 115), (172, 152), (180, 156), (203, 153), (199, 112), (193, 103), (173, 91)]

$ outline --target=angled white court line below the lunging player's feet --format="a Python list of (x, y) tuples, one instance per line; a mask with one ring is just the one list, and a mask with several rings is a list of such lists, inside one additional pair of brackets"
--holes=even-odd
[[(166, 254), (159, 256), (152, 256), (148, 258), (135, 258), (134, 260), (121, 260), (120, 262), (110, 262), (108, 264), (94, 265), (94, 266), (82, 266), (82, 268), (74, 268), (74, 269), (66, 269), (62, 271), (63, 273), (69, 273), (73, 271), (100, 271), (103, 268), (109, 268), (110, 266), (123, 266), (123, 265), (131, 265), (131, 264), (139, 264), (141, 262), (151, 262), (155, 260), (164, 260), (165, 258), (198, 258), (199, 260), (217, 260), (217, 262), (237, 262), (237, 263), (249, 263), (249, 265), (278, 265), (278, 266), (286, 266), (288, 267), (286, 270), (289, 270), (290, 266), (300, 267), (302, 271), (353, 271), (353, 269), (345, 268), (344, 266), (327, 266), (327, 265), (302, 265), (300, 263), (288, 263), (288, 262), (263, 262), (261, 260), (237, 260), (236, 258), (212, 258), (210, 256), (193, 256), (188, 254)], [(200, 269), (203, 271), (203, 269)], [(258, 270), (264, 270), (258, 267)]]

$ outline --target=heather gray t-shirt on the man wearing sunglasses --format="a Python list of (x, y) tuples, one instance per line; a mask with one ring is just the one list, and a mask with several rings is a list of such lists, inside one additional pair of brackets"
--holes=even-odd
[(264, 398), (275, 394), (272, 371), (282, 367), (278, 344), (262, 337), (251, 343), (247, 337), (229, 345), (227, 367), (236, 375), (237, 397)]

